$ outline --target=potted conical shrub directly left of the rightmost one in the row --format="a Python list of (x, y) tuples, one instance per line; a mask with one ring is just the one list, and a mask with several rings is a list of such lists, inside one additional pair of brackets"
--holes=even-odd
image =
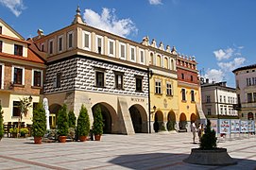
[(82, 105), (77, 119), (77, 136), (80, 142), (87, 139), (90, 131), (90, 119), (86, 108)]

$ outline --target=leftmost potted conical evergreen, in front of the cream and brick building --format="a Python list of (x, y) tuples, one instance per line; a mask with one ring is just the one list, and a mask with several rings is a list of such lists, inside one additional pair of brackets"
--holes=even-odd
[(45, 110), (43, 109), (43, 104), (39, 103), (37, 108), (33, 110), (32, 119), (32, 136), (34, 136), (35, 144), (42, 144), (42, 138), (46, 131), (46, 116)]

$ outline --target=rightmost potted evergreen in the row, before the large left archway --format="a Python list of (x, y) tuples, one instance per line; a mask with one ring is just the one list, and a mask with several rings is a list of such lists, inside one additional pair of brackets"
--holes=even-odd
[(94, 110), (94, 127), (93, 127), (95, 141), (100, 141), (101, 135), (103, 134), (103, 126), (104, 124), (103, 124), (101, 109), (99, 105), (97, 105)]

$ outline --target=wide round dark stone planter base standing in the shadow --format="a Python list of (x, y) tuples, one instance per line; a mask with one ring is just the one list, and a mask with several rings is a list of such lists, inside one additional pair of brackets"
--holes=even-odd
[(214, 148), (211, 150), (203, 150), (200, 148), (192, 148), (190, 156), (183, 160), (187, 163), (204, 164), (204, 165), (231, 165), (236, 164), (227, 152), (226, 148)]

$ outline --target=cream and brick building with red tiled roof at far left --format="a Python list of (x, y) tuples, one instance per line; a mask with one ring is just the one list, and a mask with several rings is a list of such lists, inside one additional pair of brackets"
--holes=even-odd
[(43, 92), (44, 61), (31, 50), (32, 44), (0, 19), (0, 104), (5, 124), (21, 120), (19, 103), (27, 98), (31, 107), (23, 115), (24, 124), (32, 124), (33, 107)]

